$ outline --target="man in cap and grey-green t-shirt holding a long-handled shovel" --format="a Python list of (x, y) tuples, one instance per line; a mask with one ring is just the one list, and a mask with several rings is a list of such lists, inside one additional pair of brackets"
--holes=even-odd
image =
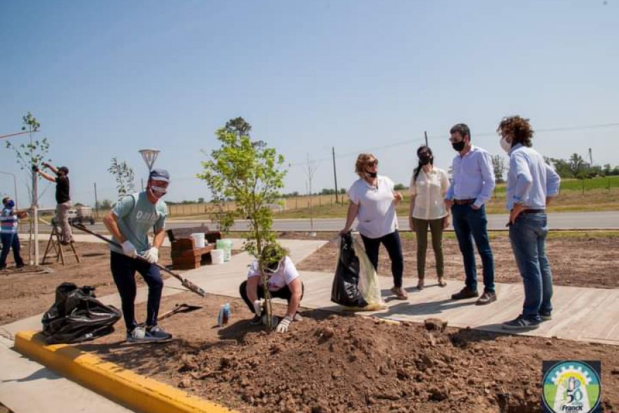
[[(127, 327), (127, 341), (163, 341), (172, 335), (157, 325), (157, 316), (163, 290), (158, 266), (159, 248), (164, 240), (164, 226), (168, 210), (162, 201), (170, 183), (165, 169), (153, 169), (149, 174), (146, 191), (127, 195), (103, 218), (103, 224), (119, 246), (110, 244), (111, 273), (122, 301), (122, 315)], [(153, 244), (148, 232), (154, 227)], [(138, 257), (140, 255), (141, 258)], [(135, 321), (135, 271), (149, 286), (146, 306), (146, 328)]]

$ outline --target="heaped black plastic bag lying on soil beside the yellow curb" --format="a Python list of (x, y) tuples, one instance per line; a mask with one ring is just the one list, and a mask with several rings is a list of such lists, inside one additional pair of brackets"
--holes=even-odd
[(118, 308), (95, 298), (94, 287), (63, 282), (56, 287), (56, 302), (41, 322), (47, 344), (79, 343), (113, 332), (120, 317)]

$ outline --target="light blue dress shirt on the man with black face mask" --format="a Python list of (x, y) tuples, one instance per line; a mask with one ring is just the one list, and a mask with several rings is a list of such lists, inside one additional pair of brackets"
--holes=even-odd
[(453, 177), (445, 194), (446, 200), (475, 200), (480, 208), (495, 189), (495, 170), (486, 149), (471, 146), (464, 156), (453, 158)]

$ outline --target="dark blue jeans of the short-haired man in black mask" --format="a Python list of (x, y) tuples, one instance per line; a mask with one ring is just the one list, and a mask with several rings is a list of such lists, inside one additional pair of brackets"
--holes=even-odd
[(477, 246), (477, 252), (481, 257), (481, 265), (484, 267), (484, 290), (495, 291), (495, 262), (492, 259), (492, 248), (488, 239), (488, 220), (486, 220), (486, 207), (473, 209), (471, 205), (453, 204), (453, 229), (458, 238), (458, 246), (464, 261), (465, 284), (471, 290), (477, 290), (477, 268), (475, 268), (475, 251), (473, 240)]

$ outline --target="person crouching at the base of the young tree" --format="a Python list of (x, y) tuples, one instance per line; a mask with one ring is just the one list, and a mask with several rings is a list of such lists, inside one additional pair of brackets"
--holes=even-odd
[[(285, 248), (277, 244), (269, 244), (263, 249), (262, 257), (263, 262), (268, 263), (264, 272), (268, 277), (271, 297), (283, 298), (288, 301), (286, 315), (276, 327), (277, 332), (287, 332), (293, 320), (301, 321), (302, 319), (297, 310), (303, 298), (303, 282), (301, 282), (301, 277)], [(241, 293), (247, 307), (254, 313), (254, 319), (250, 321), (250, 324), (261, 324), (264, 288), (258, 260), (252, 262), (247, 280), (241, 283), (239, 293)]]

